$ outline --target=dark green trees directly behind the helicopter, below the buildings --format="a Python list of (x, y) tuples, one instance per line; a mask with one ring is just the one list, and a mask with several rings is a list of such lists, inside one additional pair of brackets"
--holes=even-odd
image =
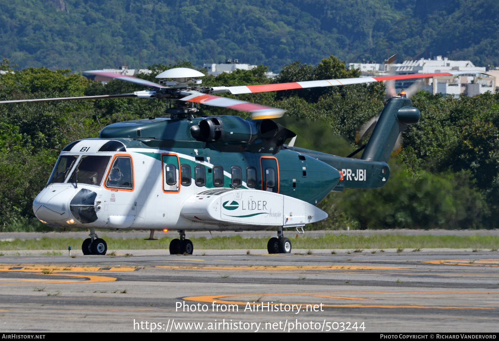
[[(149, 66), (154, 76), (190, 62)], [(113, 80), (91, 82), (69, 70), (25, 68), (15, 73), (8, 61), (0, 76), (0, 100), (129, 93), (142, 86)], [(358, 76), (334, 56), (317, 66), (293, 62), (274, 80), (259, 66), (203, 83), (249, 85), (268, 82)], [(235, 96), (236, 95), (230, 95)], [(383, 108), (384, 86), (347, 85), (281, 93), (238, 95), (240, 99), (283, 108), (280, 123), (297, 133), (296, 146), (346, 156), (355, 149), (355, 130)], [(498, 228), (499, 95), (442, 98), (420, 92), (412, 97), (421, 121), (404, 133), (404, 148), (390, 161), (390, 181), (380, 189), (332, 192), (319, 207), (329, 218), (309, 228)], [(43, 228), (32, 200), (44, 187), (60, 150), (68, 143), (97, 137), (107, 124), (161, 116), (163, 102), (124, 98), (37, 102), (0, 106), (0, 231)], [(201, 106), (201, 114), (238, 114)]]

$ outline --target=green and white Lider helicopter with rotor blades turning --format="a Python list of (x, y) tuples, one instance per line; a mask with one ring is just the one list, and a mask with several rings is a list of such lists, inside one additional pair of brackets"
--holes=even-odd
[[(46, 186), (33, 200), (44, 224), (89, 228), (84, 255), (105, 255), (97, 228), (157, 229), (179, 233), (170, 254), (192, 254), (188, 230), (276, 229), (269, 254), (290, 253), (283, 229), (303, 232), (305, 224), (327, 218), (317, 204), (331, 191), (380, 188), (390, 176), (387, 164), (402, 131), (420, 112), (405, 95), (392, 96), (370, 124), (367, 143), (347, 157), (294, 147), (296, 134), (272, 119), (284, 110), (214, 94), (266, 91), (459, 75), (465, 71), (315, 80), (230, 87), (204, 87), (204, 74), (173, 68), (158, 83), (106, 70), (84, 71), (92, 80), (120, 79), (147, 86), (128, 94), (0, 101), (1, 103), (96, 100), (136, 97), (169, 100), (165, 116), (110, 124), (98, 138), (74, 141), (62, 149)], [(168, 80), (173, 79), (173, 80)], [(196, 117), (197, 104), (251, 113), (250, 119), (221, 115)], [(365, 133), (365, 130), (364, 132)], [(286, 143), (287, 142), (287, 143)], [(352, 156), (363, 151), (360, 159)]]

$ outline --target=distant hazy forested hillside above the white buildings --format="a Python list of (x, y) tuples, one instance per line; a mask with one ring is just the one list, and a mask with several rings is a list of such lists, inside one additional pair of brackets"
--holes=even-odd
[[(462, 0), (0, 0), (0, 53), (73, 71), (239, 58), (278, 72), (444, 55), (499, 65), (499, 2)], [(142, 51), (142, 52), (140, 52)]]

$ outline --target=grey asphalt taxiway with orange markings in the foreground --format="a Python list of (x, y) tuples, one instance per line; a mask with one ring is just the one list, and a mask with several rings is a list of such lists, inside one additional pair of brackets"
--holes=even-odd
[[(0, 330), (133, 332), (135, 326), (146, 332), (147, 321), (156, 333), (185, 332), (187, 325), (177, 323), (203, 323), (198, 331), (209, 332), (217, 320), (228, 323), (219, 327), (232, 328), (226, 332), (240, 331), (229, 326), (240, 322), (243, 331), (247, 326), (255, 332), (260, 324), (258, 332), (281, 333), (291, 323), (291, 332), (296, 323), (313, 332), (327, 331), (326, 323), (336, 328), (330, 332), (354, 326), (348, 331), (362, 332), (360, 326), (365, 332), (497, 331), (497, 251), (212, 251), (76, 258), (6, 254), (0, 257)], [(279, 310), (267, 311), (267, 302)], [(196, 311), (176, 310), (179, 304)], [(204, 305), (207, 311), (198, 311)], [(227, 311), (229, 305), (239, 311)], [(293, 305), (302, 309), (289, 310)]]

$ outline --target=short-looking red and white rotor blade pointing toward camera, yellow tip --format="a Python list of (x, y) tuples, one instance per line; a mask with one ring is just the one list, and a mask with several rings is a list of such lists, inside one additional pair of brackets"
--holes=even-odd
[(212, 107), (229, 108), (238, 111), (249, 111), (251, 119), (262, 120), (282, 117), (285, 110), (266, 107), (264, 105), (251, 102), (239, 101), (233, 98), (219, 97), (214, 95), (203, 94), (197, 91), (185, 91), (183, 94), (188, 96), (181, 98), (182, 101), (194, 102), (210, 105)]

